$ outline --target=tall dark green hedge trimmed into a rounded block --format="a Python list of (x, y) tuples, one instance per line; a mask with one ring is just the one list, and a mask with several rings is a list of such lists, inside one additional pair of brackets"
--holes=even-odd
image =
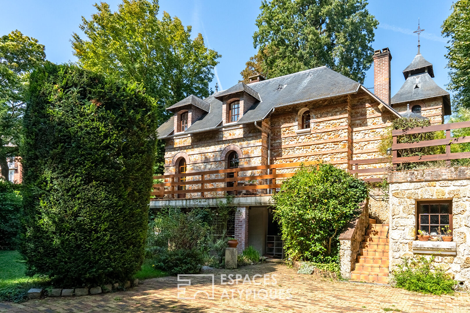
[(74, 65), (32, 73), (20, 151), (29, 274), (93, 285), (125, 281), (140, 269), (155, 112), (136, 84)]

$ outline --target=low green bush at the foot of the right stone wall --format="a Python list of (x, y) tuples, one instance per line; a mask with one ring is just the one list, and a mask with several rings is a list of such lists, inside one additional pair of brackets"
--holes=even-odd
[(392, 273), (395, 286), (409, 291), (431, 293), (434, 295), (454, 293), (454, 281), (450, 274), (433, 264), (434, 257), (427, 259), (404, 258), (403, 264)]

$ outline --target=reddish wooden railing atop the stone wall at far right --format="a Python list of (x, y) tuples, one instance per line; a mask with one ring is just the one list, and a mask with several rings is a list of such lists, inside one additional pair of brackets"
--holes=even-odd
[[(465, 159), (470, 158), (470, 152), (461, 152), (461, 153), (451, 153), (450, 146), (452, 144), (463, 144), (470, 142), (470, 136), (463, 137), (451, 137), (450, 131), (470, 127), (470, 121), (468, 122), (457, 122), (441, 125), (431, 125), (426, 127), (415, 127), (408, 130), (392, 130), (393, 144), (392, 144), (392, 163), (393, 168), (400, 163), (410, 163), (410, 162), (424, 162), (424, 161), (437, 161), (437, 160), (446, 160), (446, 163), (450, 165), (451, 160), (456, 159)], [(398, 144), (397, 137), (400, 135), (409, 135), (409, 134), (418, 134), (431, 131), (446, 131), (445, 139), (433, 139), (433, 140), (423, 140), (414, 143), (405, 143)], [(409, 156), (409, 157), (398, 157), (398, 150), (409, 149), (409, 148), (421, 148), (421, 147), (431, 147), (437, 145), (445, 145), (446, 153), (441, 154), (428, 154), (422, 156)]]

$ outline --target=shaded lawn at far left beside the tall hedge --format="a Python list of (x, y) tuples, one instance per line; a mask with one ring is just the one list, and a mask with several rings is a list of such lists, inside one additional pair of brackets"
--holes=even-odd
[(23, 302), (30, 288), (47, 285), (48, 279), (26, 276), (26, 265), (17, 251), (0, 251), (0, 300)]

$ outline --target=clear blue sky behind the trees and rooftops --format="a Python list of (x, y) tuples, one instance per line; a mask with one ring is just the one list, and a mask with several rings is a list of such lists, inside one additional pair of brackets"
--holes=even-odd
[[(55, 63), (76, 61), (72, 55), (71, 34), (79, 32), (81, 16), (89, 18), (96, 9), (92, 0), (0, 0), (0, 35), (18, 29), (25, 35), (39, 39), (46, 46), (47, 59)], [(120, 0), (108, 0), (111, 9), (117, 9)], [(184, 25), (193, 26), (193, 35), (203, 34), (206, 44), (222, 54), (216, 68), (216, 77), (224, 89), (236, 84), (240, 71), (253, 48), (255, 19), (259, 14), (259, 0), (160, 0), (161, 12), (178, 16)], [(452, 0), (370, 0), (368, 10), (380, 22), (376, 30), (374, 49), (389, 47), (392, 53), (392, 95), (404, 77), (403, 69), (413, 60), (417, 51), (418, 17), (421, 28), (421, 53), (433, 63), (434, 80), (445, 88), (448, 83), (446, 66), (446, 39), (440, 35), (440, 26), (451, 13)], [(8, 8), (8, 9), (5, 9)], [(367, 72), (364, 85), (373, 87), (373, 68)]]

